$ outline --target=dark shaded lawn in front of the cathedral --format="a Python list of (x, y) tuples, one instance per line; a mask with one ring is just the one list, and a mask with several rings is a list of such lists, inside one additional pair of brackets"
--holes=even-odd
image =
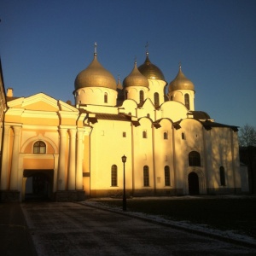
[[(235, 230), (238, 234), (256, 238), (256, 197), (180, 199), (128, 199), (127, 211), (160, 215), (192, 224), (207, 224), (212, 229)], [(121, 200), (104, 200), (104, 203), (122, 207)]]

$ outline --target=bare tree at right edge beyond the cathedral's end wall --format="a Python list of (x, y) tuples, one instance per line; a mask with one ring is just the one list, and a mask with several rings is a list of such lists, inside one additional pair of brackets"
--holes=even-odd
[(244, 125), (239, 131), (240, 158), (248, 166), (250, 190), (255, 192), (256, 177), (256, 129), (251, 125)]

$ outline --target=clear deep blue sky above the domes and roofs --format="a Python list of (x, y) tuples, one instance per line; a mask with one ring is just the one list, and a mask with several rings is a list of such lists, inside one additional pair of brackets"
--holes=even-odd
[(76, 75), (98, 60), (121, 81), (149, 59), (170, 83), (178, 63), (195, 84), (195, 109), (256, 127), (256, 1), (0, 0), (5, 87), (73, 100)]

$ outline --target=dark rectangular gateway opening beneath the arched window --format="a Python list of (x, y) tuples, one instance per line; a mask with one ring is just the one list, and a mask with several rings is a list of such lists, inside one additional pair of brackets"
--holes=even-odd
[(52, 198), (53, 170), (25, 170), (25, 201), (45, 201)]

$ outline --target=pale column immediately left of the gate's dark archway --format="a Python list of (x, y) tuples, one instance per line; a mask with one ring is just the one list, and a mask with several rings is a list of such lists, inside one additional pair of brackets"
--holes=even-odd
[(13, 127), (15, 132), (13, 155), (12, 155), (12, 166), (10, 173), (10, 190), (18, 189), (18, 170), (19, 170), (19, 146), (20, 146), (20, 126)]

